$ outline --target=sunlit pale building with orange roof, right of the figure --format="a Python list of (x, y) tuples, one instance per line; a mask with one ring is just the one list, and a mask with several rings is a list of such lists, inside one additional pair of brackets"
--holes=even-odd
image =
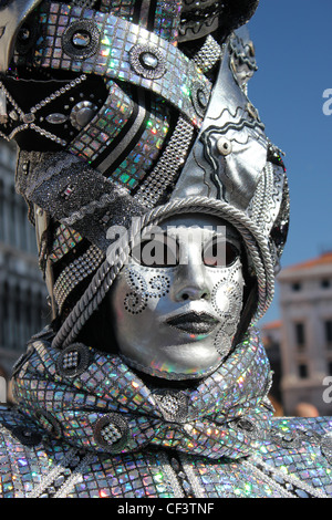
[(332, 415), (332, 252), (283, 269), (278, 281), (284, 413), (304, 402)]

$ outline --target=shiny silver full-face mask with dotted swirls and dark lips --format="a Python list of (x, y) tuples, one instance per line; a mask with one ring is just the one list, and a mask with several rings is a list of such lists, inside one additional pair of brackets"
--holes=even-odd
[(242, 308), (236, 231), (215, 217), (169, 218), (133, 249), (110, 291), (126, 363), (169, 379), (214, 372)]

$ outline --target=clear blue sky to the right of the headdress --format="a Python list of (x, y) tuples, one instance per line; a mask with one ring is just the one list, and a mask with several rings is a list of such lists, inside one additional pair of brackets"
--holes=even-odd
[[(261, 0), (248, 25), (259, 70), (249, 97), (284, 153), (291, 222), (282, 266), (332, 250), (332, 1)], [(332, 103), (331, 103), (332, 107)], [(261, 321), (279, 318), (278, 291)]]

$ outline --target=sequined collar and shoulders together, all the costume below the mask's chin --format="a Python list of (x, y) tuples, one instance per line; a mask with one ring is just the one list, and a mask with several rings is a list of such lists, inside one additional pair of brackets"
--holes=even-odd
[(330, 498), (332, 419), (271, 418), (255, 331), (196, 389), (149, 387), (116, 355), (40, 334), (0, 409), (6, 498)]

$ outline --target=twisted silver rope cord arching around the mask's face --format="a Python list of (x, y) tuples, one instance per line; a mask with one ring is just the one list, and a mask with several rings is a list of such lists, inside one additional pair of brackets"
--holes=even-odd
[(190, 212), (204, 212), (220, 218), (227, 217), (227, 221), (240, 232), (252, 259), (258, 280), (259, 302), (252, 323), (264, 314), (272, 301), (274, 291), (274, 271), (266, 238), (242, 211), (230, 207), (227, 202), (207, 197), (189, 197), (173, 200), (147, 212), (141, 219), (139, 229), (137, 222), (136, 229), (131, 230), (133, 243), (129, 243), (128, 238), (124, 236), (111, 248), (107, 259), (98, 268), (89, 288), (56, 333), (53, 340), (54, 347), (60, 349), (71, 344), (97, 309), (125, 264), (131, 248), (135, 245), (135, 239), (139, 239), (139, 230), (145, 229), (147, 226), (156, 226), (160, 220), (189, 210)]

